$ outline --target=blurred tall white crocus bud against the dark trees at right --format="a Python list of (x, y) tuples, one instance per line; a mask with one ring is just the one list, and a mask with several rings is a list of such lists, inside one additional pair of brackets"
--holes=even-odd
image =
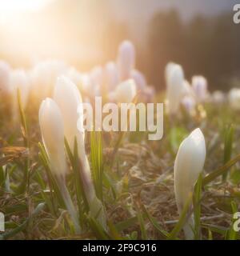
[(184, 73), (182, 66), (170, 64), (166, 68), (166, 102), (168, 112), (176, 114), (184, 92)]

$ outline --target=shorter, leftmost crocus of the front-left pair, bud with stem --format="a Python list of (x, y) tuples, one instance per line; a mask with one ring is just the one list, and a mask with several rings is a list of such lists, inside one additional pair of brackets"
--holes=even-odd
[(50, 161), (50, 170), (58, 182), (66, 208), (74, 222), (77, 233), (80, 232), (78, 216), (66, 187), (66, 156), (64, 151), (64, 130), (62, 114), (54, 100), (46, 98), (39, 109), (39, 124), (42, 141)]

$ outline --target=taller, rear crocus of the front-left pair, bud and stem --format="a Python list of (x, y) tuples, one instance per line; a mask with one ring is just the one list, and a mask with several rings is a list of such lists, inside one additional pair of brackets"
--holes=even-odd
[(58, 78), (56, 83), (54, 89), (54, 100), (57, 102), (62, 112), (64, 134), (73, 154), (75, 138), (78, 144), (78, 158), (82, 166), (80, 175), (83, 182), (83, 190), (86, 194), (86, 200), (90, 207), (90, 214), (92, 217), (98, 218), (98, 222), (100, 222), (102, 226), (105, 227), (105, 211), (103, 209), (102, 202), (97, 198), (95, 194), (94, 184), (91, 178), (90, 165), (86, 156), (81, 94), (77, 86), (75, 86), (69, 78), (62, 76)]

